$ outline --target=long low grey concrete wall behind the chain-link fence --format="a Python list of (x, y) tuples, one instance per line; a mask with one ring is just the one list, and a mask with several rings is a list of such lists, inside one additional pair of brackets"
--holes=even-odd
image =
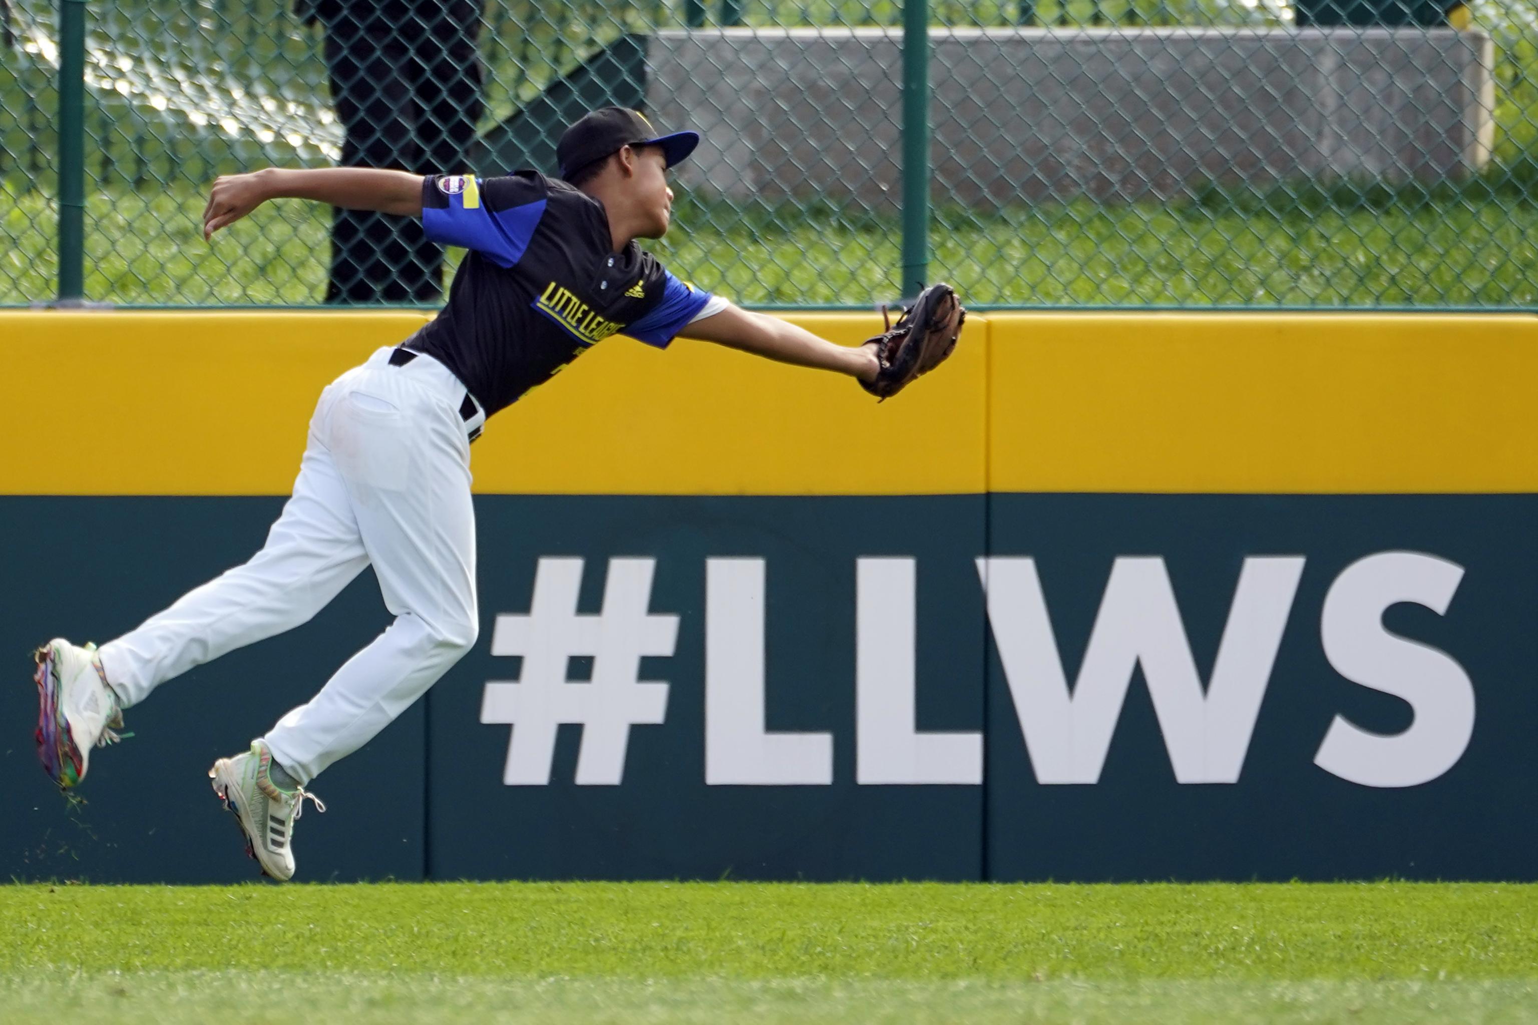
[[(1207, 181), (1435, 180), (1490, 154), (1493, 49), (1453, 29), (946, 29), (934, 189), (969, 204)], [(895, 204), (895, 29), (658, 32), (646, 101), (704, 134), (689, 186)]]

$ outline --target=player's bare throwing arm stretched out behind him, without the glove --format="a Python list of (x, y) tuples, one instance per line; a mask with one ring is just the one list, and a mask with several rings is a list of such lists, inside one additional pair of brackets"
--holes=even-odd
[(315, 200), (349, 211), (421, 217), (421, 175), (377, 168), (266, 168), (223, 175), (214, 181), (203, 207), (203, 238), (212, 238), (268, 200)]

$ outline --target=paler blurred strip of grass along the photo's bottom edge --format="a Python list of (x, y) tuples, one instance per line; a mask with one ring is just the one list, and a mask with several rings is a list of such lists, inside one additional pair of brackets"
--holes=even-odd
[(652, 1025), (823, 1022), (927, 1025), (1518, 1025), (1538, 1020), (1530, 982), (489, 982), (446, 976), (208, 971), (0, 980), (6, 1020), (138, 1025), (540, 1022)]

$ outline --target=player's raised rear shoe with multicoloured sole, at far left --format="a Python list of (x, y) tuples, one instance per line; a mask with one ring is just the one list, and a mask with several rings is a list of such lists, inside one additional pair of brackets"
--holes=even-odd
[(91, 764), (91, 748), (117, 744), (123, 708), (108, 687), (95, 645), (78, 647), (55, 638), (32, 653), (37, 672), (37, 758), (60, 790), (78, 787)]

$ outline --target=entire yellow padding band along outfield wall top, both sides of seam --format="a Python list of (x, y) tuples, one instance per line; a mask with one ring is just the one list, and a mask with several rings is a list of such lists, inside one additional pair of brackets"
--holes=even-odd
[[(424, 320), (0, 313), (0, 493), (286, 495), (320, 389)], [(792, 320), (846, 344), (880, 323)], [(472, 464), (481, 493), (1535, 492), (1535, 386), (1524, 315), (994, 313), (881, 406), (615, 338), (495, 416)]]

